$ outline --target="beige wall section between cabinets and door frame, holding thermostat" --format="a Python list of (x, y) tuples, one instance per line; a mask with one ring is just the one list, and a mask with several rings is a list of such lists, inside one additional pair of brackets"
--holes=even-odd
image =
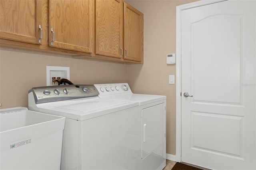
[(196, 0), (126, 0), (144, 14), (144, 65), (128, 65), (128, 83), (134, 93), (166, 95), (166, 152), (176, 154), (176, 65), (166, 54), (176, 53), (176, 6)]

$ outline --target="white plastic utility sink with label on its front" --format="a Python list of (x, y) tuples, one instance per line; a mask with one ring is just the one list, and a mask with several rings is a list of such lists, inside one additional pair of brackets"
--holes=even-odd
[(59, 170), (65, 118), (25, 107), (0, 110), (0, 169)]

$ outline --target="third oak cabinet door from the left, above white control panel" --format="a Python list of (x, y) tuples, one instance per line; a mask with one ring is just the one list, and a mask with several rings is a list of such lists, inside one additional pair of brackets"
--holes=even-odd
[(96, 54), (121, 58), (123, 16), (121, 0), (96, 0)]

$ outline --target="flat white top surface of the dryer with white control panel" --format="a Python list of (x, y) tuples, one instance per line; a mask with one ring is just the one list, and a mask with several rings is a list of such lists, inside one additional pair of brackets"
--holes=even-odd
[(115, 99), (115, 100), (121, 100), (121, 101), (139, 102), (140, 106), (166, 99), (166, 96), (161, 96), (161, 95), (144, 95), (144, 94), (133, 94), (133, 93), (116, 94), (116, 95), (99, 95), (99, 97), (101, 99)]

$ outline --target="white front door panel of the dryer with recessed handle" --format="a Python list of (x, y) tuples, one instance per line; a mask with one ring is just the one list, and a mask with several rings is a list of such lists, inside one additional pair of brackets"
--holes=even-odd
[[(164, 144), (164, 103), (142, 110), (142, 153), (145, 158), (151, 152), (161, 155)], [(160, 152), (159, 152), (160, 151)]]

